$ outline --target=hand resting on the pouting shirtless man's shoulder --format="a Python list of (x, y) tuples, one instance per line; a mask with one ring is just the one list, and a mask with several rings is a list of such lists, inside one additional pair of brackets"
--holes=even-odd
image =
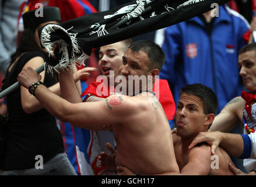
[(200, 132), (189, 145), (189, 150), (192, 150), (194, 146), (199, 143), (206, 141), (207, 144), (211, 146), (211, 154), (214, 155), (217, 147), (220, 144), (220, 134), (218, 131), (215, 132)]

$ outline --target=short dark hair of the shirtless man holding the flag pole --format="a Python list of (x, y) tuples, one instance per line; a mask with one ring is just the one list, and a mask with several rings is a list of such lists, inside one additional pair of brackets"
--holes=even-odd
[(151, 61), (149, 70), (157, 68), (160, 71), (163, 67), (163, 63), (165, 63), (165, 53), (163, 52), (162, 48), (153, 41), (135, 41), (131, 44), (131, 46), (129, 46), (129, 49), (132, 51), (132, 53), (144, 51), (144, 53), (148, 55), (148, 58)]

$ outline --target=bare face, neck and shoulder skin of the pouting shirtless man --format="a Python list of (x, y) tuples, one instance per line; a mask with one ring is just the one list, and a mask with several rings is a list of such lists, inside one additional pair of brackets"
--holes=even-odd
[[(226, 151), (217, 148), (219, 169), (211, 169), (210, 146), (202, 144), (188, 151), (188, 145), (200, 132), (206, 131), (214, 115), (203, 113), (203, 103), (197, 96), (183, 93), (176, 110), (177, 133), (173, 133), (173, 146), (179, 165), (180, 175), (233, 175), (228, 168), (232, 162)], [(128, 168), (118, 167), (118, 175), (132, 174)], [(169, 173), (162, 175), (170, 175)]]

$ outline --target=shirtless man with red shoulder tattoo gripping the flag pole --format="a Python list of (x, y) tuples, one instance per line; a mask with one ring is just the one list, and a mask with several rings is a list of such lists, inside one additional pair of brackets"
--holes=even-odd
[[(125, 53), (120, 72), (125, 77), (152, 75), (154, 79), (164, 61), (161, 47), (151, 41), (136, 41)], [(70, 72), (63, 70), (59, 76), (62, 97), (69, 101), (42, 84), (35, 89), (35, 97), (53, 116), (91, 130), (112, 127), (118, 150), (115, 162), (135, 174), (179, 173), (169, 123), (161, 104), (150, 92), (152, 88), (145, 90), (146, 86), (140, 84), (141, 92), (134, 92), (135, 96), (111, 95), (104, 101), (80, 103)], [(19, 74), (18, 81), (29, 89), (40, 78), (28, 68)]]

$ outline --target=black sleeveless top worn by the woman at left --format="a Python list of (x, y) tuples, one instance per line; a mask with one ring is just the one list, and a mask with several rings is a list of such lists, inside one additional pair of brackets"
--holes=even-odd
[[(23, 54), (6, 75), (3, 89), (16, 82), (19, 72), (33, 57), (45, 58), (45, 55), (36, 51)], [(44, 82), (47, 87), (56, 83), (47, 72)], [(36, 155), (42, 155), (46, 162), (54, 155), (64, 152), (56, 121), (47, 110), (25, 113), (22, 110), (20, 88), (6, 96), (6, 102), (8, 122), (4, 170), (34, 168)]]

